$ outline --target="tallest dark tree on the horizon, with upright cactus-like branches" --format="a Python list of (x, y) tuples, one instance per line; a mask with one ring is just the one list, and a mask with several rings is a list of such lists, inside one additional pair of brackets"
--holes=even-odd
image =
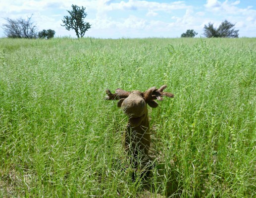
[(84, 19), (87, 16), (85, 12), (85, 7), (79, 7), (77, 5), (72, 4), (72, 10), (67, 10), (70, 16), (64, 16), (62, 22), (66, 29), (69, 31), (70, 29), (75, 30), (77, 38), (82, 38), (85, 35), (85, 32), (91, 28), (91, 24), (85, 22)]

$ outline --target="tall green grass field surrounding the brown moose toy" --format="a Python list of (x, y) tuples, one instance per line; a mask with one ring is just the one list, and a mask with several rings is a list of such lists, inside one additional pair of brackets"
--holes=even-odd
[[(132, 181), (105, 89), (166, 84)], [(0, 197), (256, 196), (256, 39), (0, 39)]]

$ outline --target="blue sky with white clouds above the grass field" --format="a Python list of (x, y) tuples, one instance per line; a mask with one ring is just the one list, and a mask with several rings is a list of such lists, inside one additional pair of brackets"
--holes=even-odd
[[(38, 30), (55, 30), (55, 36), (75, 37), (60, 26), (71, 5), (86, 7), (85, 36), (95, 38), (177, 38), (187, 29), (203, 36), (209, 22), (225, 19), (236, 24), (239, 37), (256, 37), (256, 0), (0, 0), (0, 27), (4, 18), (32, 16)], [(4, 37), (0, 28), (0, 37)]]

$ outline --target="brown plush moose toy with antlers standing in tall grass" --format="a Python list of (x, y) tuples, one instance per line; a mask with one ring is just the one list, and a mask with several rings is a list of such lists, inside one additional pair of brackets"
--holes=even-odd
[(163, 92), (166, 87), (166, 85), (159, 89), (152, 87), (145, 92), (127, 92), (118, 88), (115, 94), (106, 90), (107, 97), (105, 99), (119, 99), (117, 106), (122, 107), (123, 112), (129, 117), (124, 146), (131, 155), (135, 166), (137, 166), (136, 159), (138, 156), (140, 156), (143, 164), (147, 164), (151, 160), (149, 156), (151, 137), (147, 104), (156, 108), (158, 103), (154, 101), (155, 99), (162, 100), (163, 96), (173, 98), (172, 93)]

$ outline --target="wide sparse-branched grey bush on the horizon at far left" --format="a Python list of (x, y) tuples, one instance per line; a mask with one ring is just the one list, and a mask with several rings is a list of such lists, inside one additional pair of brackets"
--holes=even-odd
[(10, 19), (4, 18), (7, 23), (3, 24), (2, 29), (8, 38), (27, 38), (33, 39), (37, 37), (37, 27), (31, 21), (32, 15), (26, 19)]

